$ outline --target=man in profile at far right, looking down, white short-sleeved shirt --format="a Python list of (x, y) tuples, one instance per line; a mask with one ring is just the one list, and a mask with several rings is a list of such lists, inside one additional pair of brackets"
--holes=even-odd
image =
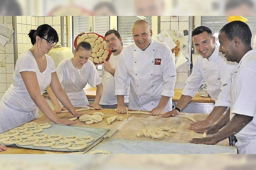
[(204, 129), (216, 134), (193, 138), (191, 143), (216, 144), (234, 134), (238, 154), (256, 154), (256, 49), (251, 47), (251, 38), (249, 26), (241, 21), (230, 22), (220, 30), (219, 51), (228, 61), (238, 63), (232, 75), (230, 114)]

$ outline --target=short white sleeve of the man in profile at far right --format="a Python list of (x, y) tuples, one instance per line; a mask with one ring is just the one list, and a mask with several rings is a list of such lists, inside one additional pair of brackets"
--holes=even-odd
[[(256, 114), (256, 70), (244, 68), (236, 81), (236, 101), (230, 113), (252, 116)], [(239, 84), (238, 84), (239, 83)]]

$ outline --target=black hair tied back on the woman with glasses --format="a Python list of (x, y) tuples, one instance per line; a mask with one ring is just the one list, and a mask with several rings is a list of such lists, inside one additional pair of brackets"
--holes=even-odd
[(28, 33), (28, 36), (31, 40), (32, 45), (36, 43), (36, 36), (39, 36), (40, 38), (47, 36), (46, 39), (48, 41), (53, 41), (53, 42), (59, 41), (58, 33), (56, 32), (56, 30), (54, 30), (54, 28), (52, 28), (48, 24), (40, 25), (36, 30), (30, 30), (30, 32)]

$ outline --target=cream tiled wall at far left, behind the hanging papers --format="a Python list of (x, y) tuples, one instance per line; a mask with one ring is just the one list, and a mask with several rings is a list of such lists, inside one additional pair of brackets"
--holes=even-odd
[[(7, 23), (12, 26), (12, 16), (0, 16), (0, 23)], [(6, 51), (6, 53), (4, 51)], [(5, 67), (0, 67), (0, 99), (5, 91), (12, 83), (12, 73), (14, 72), (14, 52), (13, 52), (13, 38), (3, 47), (0, 45), (0, 61), (4, 62)]]

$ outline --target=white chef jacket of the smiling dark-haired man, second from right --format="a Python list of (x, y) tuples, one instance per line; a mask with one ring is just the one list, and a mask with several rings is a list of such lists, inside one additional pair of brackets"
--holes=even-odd
[(219, 52), (219, 46), (215, 45), (209, 60), (200, 55), (194, 62), (192, 73), (186, 80), (182, 95), (194, 97), (205, 81), (215, 106), (229, 107), (231, 76), (236, 65), (234, 62), (227, 61)]

